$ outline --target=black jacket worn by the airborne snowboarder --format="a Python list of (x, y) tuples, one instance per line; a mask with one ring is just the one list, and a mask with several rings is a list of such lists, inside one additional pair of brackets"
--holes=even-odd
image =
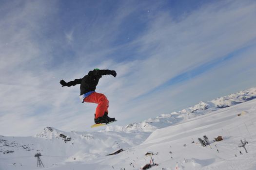
[(95, 91), (96, 86), (98, 85), (98, 80), (103, 75), (113, 75), (113, 72), (116, 73), (116, 71), (109, 69), (92, 70), (83, 78), (68, 82), (67, 86), (80, 84), (80, 95), (82, 95), (89, 91)]

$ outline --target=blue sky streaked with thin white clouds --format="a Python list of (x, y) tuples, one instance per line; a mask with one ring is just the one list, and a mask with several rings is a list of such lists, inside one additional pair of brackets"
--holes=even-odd
[(112, 69), (97, 92), (117, 125), (256, 86), (254, 0), (1, 0), (0, 135), (46, 126), (91, 131), (81, 78)]

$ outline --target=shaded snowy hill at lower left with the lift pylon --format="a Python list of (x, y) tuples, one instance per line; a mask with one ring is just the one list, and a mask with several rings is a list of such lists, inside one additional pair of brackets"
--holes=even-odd
[(34, 170), (36, 153), (46, 158), (42, 158), (45, 167), (83, 160), (97, 164), (97, 157), (136, 146), (149, 135), (146, 132), (63, 132), (46, 127), (34, 137), (0, 136), (0, 170)]

